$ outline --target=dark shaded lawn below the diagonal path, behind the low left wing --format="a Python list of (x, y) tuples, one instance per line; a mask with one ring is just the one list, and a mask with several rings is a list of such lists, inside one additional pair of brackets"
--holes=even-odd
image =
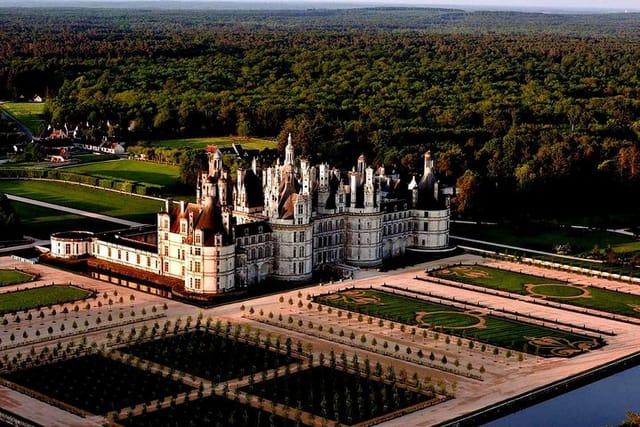
[(60, 212), (27, 203), (11, 202), (26, 236), (48, 239), (51, 233), (58, 231), (109, 231), (122, 228), (122, 225), (100, 221), (85, 216)]

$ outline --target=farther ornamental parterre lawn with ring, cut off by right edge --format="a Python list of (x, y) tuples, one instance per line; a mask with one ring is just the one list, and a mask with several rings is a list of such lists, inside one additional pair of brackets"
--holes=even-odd
[(581, 286), (550, 278), (482, 265), (458, 265), (430, 271), (429, 275), (475, 286), (531, 295), (536, 298), (640, 318), (640, 295)]

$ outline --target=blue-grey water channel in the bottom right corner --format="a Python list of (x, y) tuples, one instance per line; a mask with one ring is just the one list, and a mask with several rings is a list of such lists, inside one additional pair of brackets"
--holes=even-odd
[(618, 426), (640, 413), (640, 366), (484, 424), (486, 427)]

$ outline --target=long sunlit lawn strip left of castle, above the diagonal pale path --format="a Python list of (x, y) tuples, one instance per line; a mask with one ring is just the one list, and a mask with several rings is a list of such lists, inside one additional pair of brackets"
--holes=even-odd
[(0, 192), (145, 224), (155, 224), (156, 213), (164, 206), (158, 200), (50, 181), (0, 180)]

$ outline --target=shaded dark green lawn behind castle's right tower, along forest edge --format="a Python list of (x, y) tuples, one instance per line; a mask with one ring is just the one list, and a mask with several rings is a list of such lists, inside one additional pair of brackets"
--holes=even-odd
[(453, 223), (451, 234), (552, 253), (557, 245), (566, 243), (571, 245), (572, 254), (588, 252), (594, 247), (605, 249), (609, 245), (616, 252), (640, 251), (640, 241), (601, 230), (532, 226), (523, 231), (508, 226)]

